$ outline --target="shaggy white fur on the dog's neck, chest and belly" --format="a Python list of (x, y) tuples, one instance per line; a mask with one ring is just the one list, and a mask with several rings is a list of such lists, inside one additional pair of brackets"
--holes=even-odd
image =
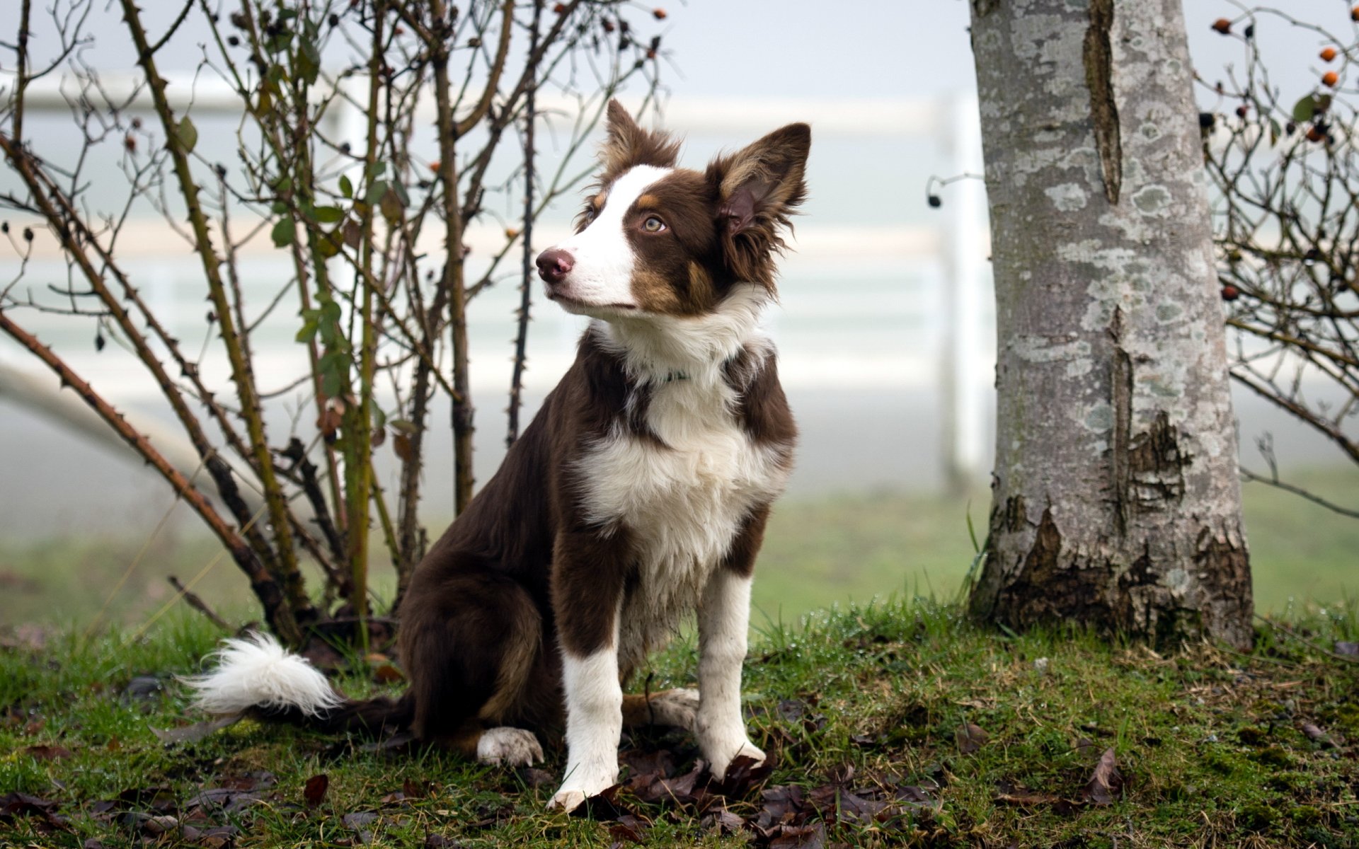
[[(650, 380), (647, 424), (666, 447), (618, 431), (584, 451), (583, 504), (594, 524), (626, 524), (639, 546), (640, 584), (620, 624), (618, 653), (641, 666), (693, 611), (741, 520), (787, 482), (788, 446), (756, 446), (735, 420), (737, 391), (723, 361), (749, 344), (764, 365), (772, 345), (757, 333), (752, 295), (734, 292), (718, 311), (601, 329), (639, 380)], [(652, 319), (655, 321), (655, 319)], [(677, 330), (678, 329), (678, 330)], [(667, 333), (669, 330), (669, 333)], [(663, 379), (682, 374), (682, 379)]]

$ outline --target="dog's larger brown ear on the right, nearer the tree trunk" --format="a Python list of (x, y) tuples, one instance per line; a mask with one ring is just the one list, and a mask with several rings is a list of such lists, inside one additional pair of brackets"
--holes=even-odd
[(727, 264), (739, 278), (773, 289), (773, 257), (784, 247), (780, 228), (807, 197), (803, 174), (811, 128), (790, 124), (708, 166), (718, 189), (718, 225)]

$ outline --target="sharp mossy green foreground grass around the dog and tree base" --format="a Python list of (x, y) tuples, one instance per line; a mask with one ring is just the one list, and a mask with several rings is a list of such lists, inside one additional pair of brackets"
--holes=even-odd
[[(761, 787), (810, 796), (852, 767), (844, 784), (860, 796), (912, 787), (928, 799), (868, 823), (822, 806), (810, 818), (826, 823), (828, 845), (1354, 846), (1359, 666), (1321, 648), (1354, 640), (1359, 625), (1330, 610), (1295, 629), (1306, 643), (1267, 630), (1249, 656), (1207, 645), (1159, 656), (1076, 630), (980, 630), (925, 600), (766, 626), (745, 672), (752, 736), (779, 758)], [(262, 800), (201, 814), (197, 827), (234, 826), (236, 846), (352, 845), (359, 831), (378, 846), (425, 845), (427, 835), (444, 841), (428, 845), (469, 849), (620, 839), (618, 823), (545, 812), (554, 787), (533, 773), (439, 751), (385, 754), (249, 721), (163, 746), (149, 728), (188, 716), (173, 675), (194, 671), (216, 636), (175, 614), (132, 641), (116, 630), (64, 633), (41, 649), (0, 649), (0, 795), (30, 793), (67, 818), (61, 830), (0, 814), (0, 845), (141, 844), (152, 826), (166, 827), (147, 814), (185, 816), (196, 795), (226, 787), (255, 787)], [(690, 685), (694, 664), (692, 644), (674, 645), (656, 656), (651, 686)], [(139, 676), (148, 675), (162, 687), (144, 686)], [(363, 676), (341, 683), (355, 694), (381, 689)], [(974, 751), (958, 736), (969, 723), (985, 735)], [(1307, 723), (1328, 738), (1313, 740)], [(42, 746), (69, 754), (45, 759), (53, 750)], [(631, 746), (669, 748), (681, 772), (694, 755), (682, 734)], [(1112, 804), (1094, 804), (1083, 788), (1108, 748), (1125, 784)], [(561, 753), (549, 750), (545, 769), (554, 777), (561, 767)], [(329, 792), (310, 808), (303, 788), (322, 773)], [(404, 787), (414, 797), (391, 796)], [(727, 808), (756, 815), (758, 789)], [(620, 800), (648, 846), (764, 845), (747, 830), (705, 829), (692, 807), (625, 792)], [(375, 816), (345, 819), (356, 812)], [(159, 842), (177, 839), (171, 829)]]

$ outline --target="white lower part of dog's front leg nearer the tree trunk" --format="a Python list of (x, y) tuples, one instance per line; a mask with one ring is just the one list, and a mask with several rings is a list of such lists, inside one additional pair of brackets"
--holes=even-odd
[(694, 736), (720, 781), (737, 755), (764, 761), (741, 719), (741, 664), (750, 624), (750, 579), (728, 569), (712, 576), (699, 606), (699, 715)]

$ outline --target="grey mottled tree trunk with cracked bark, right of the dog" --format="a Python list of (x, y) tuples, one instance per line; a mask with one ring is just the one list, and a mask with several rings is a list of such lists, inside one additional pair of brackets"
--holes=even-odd
[(1252, 643), (1181, 0), (972, 0), (998, 427), (974, 615)]

